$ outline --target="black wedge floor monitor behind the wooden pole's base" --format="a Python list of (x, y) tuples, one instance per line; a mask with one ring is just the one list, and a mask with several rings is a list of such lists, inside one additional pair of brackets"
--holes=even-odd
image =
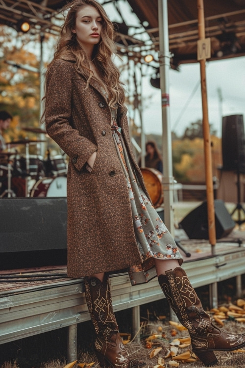
[[(215, 228), (216, 238), (220, 239), (228, 235), (235, 227), (235, 222), (226, 210), (223, 201), (215, 200)], [(203, 202), (179, 223), (189, 239), (208, 239), (208, 214), (207, 202)]]

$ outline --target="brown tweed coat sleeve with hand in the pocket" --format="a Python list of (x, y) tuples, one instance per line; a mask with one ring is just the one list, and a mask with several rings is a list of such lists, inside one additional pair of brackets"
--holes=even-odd
[(46, 130), (49, 136), (71, 158), (77, 170), (97, 150), (88, 138), (80, 135), (72, 122), (72, 75), (73, 63), (54, 60), (46, 80)]

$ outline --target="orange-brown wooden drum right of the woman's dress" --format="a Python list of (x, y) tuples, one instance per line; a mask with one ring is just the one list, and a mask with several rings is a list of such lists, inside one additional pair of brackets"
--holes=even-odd
[(163, 203), (163, 175), (151, 167), (141, 168), (143, 179), (154, 208)]

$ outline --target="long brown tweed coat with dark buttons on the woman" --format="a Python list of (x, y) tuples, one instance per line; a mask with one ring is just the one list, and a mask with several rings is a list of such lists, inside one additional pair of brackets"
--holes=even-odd
[[(46, 128), (69, 156), (67, 175), (68, 275), (88, 276), (142, 263), (126, 180), (111, 133), (111, 112), (96, 81), (75, 71), (73, 56), (52, 62), (47, 79)], [(118, 109), (125, 145), (133, 155), (125, 107)], [(87, 159), (97, 151), (92, 172)]]

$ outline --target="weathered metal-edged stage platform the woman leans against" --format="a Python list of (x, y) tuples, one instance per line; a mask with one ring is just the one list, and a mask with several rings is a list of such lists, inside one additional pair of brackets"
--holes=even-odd
[[(211, 247), (207, 240), (190, 240), (179, 231), (185, 251), (183, 268), (195, 288), (210, 286), (210, 305), (218, 303), (218, 282), (237, 278), (242, 296), (245, 273), (245, 232), (238, 229)], [(127, 272), (110, 276), (115, 311), (132, 308), (133, 332), (140, 327), (140, 305), (164, 295), (157, 278), (131, 286)], [(89, 320), (82, 279), (70, 279), (66, 265), (0, 271), (0, 343), (68, 327), (68, 360), (76, 359), (77, 323)]]

